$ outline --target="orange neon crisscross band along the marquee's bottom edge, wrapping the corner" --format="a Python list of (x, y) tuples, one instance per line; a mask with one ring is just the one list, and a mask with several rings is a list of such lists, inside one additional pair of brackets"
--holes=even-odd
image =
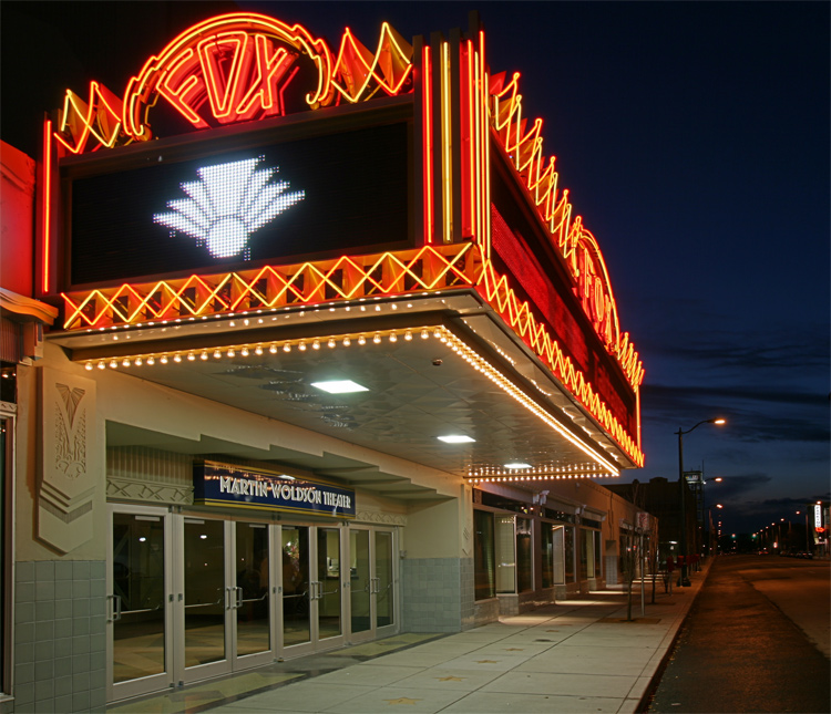
[[(547, 325), (516, 297), (509, 278), (497, 273), (473, 242), (61, 294), (64, 329), (83, 330), (465, 287), (475, 288), (624, 451), (643, 464), (637, 442), (551, 338)], [(637, 394), (644, 371), (628, 335), (624, 341), (627, 376)]]

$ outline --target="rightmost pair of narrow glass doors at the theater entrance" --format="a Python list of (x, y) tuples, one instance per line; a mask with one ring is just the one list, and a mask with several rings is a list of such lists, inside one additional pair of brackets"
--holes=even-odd
[(355, 527), (349, 544), (351, 641), (392, 634), (397, 629), (393, 534)]

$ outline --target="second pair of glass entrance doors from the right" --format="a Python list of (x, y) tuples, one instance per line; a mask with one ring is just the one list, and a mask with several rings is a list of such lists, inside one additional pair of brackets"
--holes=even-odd
[(283, 646), (289, 656), (343, 642), (340, 528), (283, 526)]

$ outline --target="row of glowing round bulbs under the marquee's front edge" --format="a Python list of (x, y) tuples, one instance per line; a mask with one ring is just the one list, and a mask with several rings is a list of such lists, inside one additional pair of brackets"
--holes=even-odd
[[(265, 354), (265, 352), (268, 352), (270, 354), (277, 354), (278, 352), (291, 352), (295, 348), (297, 348), (300, 352), (305, 352), (308, 349), (312, 350), (320, 350), (324, 345), (326, 345), (329, 349), (335, 349), (338, 346), (338, 343), (340, 343), (342, 346), (348, 348), (352, 344), (352, 342), (365, 345), (367, 342), (371, 342), (373, 344), (380, 344), (383, 341), (383, 335), (386, 334), (389, 342), (398, 342), (399, 335), (404, 341), (409, 342), (413, 339), (414, 333), (419, 333), (422, 340), (427, 340), (431, 337), (439, 337), (439, 332), (434, 331), (431, 332), (428, 328), (421, 328), (416, 330), (406, 330), (403, 332), (398, 332), (394, 330), (391, 330), (389, 332), (375, 332), (371, 337), (368, 337), (366, 333), (358, 333), (352, 335), (342, 335), (339, 338), (320, 338), (320, 339), (314, 339), (314, 340), (297, 340), (297, 341), (286, 341), (286, 342), (271, 342), (268, 345), (265, 344), (244, 344), (244, 345), (230, 345), (227, 348), (214, 348), (213, 350), (186, 350), (181, 352), (171, 352), (171, 353), (155, 353), (155, 354), (138, 354), (133, 356), (125, 356), (125, 358), (111, 358), (109, 360), (90, 360), (84, 364), (86, 370), (94, 370), (98, 368), (99, 370), (105, 370), (107, 366), (111, 369), (116, 368), (129, 368), (129, 366), (142, 366), (142, 365), (150, 365), (153, 366), (154, 364), (170, 364), (171, 362), (175, 364), (181, 364), (182, 362), (196, 362), (197, 360), (201, 360), (203, 362), (207, 362), (212, 356), (215, 360), (220, 360), (223, 356), (226, 358), (236, 358), (237, 355), (247, 358), (250, 354), (256, 354), (257, 356)], [(340, 342), (338, 342), (338, 340)]]

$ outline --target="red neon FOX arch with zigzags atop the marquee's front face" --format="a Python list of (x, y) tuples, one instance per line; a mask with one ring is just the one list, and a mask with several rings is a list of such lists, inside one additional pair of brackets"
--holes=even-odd
[[(209, 100), (208, 107), (222, 124), (281, 115), (281, 92), (294, 77), (295, 55), (275, 41), (308, 54), (318, 68), (318, 85), (308, 95), (310, 108), (366, 102), (379, 92), (390, 96), (412, 92), (407, 84), (412, 76), (412, 46), (387, 22), (375, 54), (347, 28), (335, 60), (326, 43), (301, 25), (229, 13), (198, 23), (170, 42), (131, 80), (123, 99), (95, 81), (90, 83), (88, 102), (66, 90), (54, 138), (73, 154), (146, 141), (152, 137), (148, 113), (160, 96), (194, 126), (205, 128), (208, 124), (192, 106), (194, 86), (202, 87), (199, 96)], [(220, 45), (234, 60), (227, 76), (225, 65), (212, 60), (211, 52)], [(88, 145), (90, 137), (95, 143)]]

